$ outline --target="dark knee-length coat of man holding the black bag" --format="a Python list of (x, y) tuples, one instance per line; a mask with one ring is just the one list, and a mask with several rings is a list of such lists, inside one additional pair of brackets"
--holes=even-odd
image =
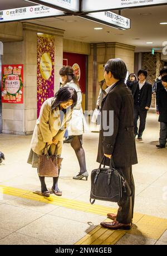
[[(131, 166), (137, 163), (133, 109), (134, 100), (131, 91), (124, 81), (118, 81), (102, 101), (102, 125), (97, 162), (102, 161), (105, 153), (112, 154), (116, 167)], [(114, 131), (113, 134), (107, 136), (104, 134), (106, 132), (104, 124), (109, 125), (109, 110), (114, 110), (114, 122), (112, 121)], [(104, 119), (105, 113), (107, 113), (107, 118)], [(109, 166), (109, 164), (110, 160), (106, 158), (106, 165)]]

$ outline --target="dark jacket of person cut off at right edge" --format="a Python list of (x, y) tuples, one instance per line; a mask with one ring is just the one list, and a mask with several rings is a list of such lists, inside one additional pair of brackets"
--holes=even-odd
[(167, 91), (164, 86), (156, 95), (156, 104), (159, 110), (159, 122), (167, 123)]

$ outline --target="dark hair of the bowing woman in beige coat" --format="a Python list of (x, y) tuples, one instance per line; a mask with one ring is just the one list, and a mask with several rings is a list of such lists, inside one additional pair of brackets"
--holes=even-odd
[(55, 99), (51, 104), (51, 110), (56, 109), (62, 102), (67, 102), (68, 100), (73, 100), (71, 108), (75, 107), (77, 103), (77, 93), (76, 90), (70, 86), (65, 86), (60, 88), (55, 94)]

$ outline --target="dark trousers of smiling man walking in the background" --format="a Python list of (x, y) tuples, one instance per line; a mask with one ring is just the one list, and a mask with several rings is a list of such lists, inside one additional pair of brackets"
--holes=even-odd
[[(141, 108), (139, 105), (134, 105), (134, 133), (138, 134), (139, 136), (142, 136), (144, 132), (147, 113), (148, 113), (148, 110)], [(139, 118), (140, 118), (140, 125), (139, 125), (139, 132), (138, 132), (137, 120)]]

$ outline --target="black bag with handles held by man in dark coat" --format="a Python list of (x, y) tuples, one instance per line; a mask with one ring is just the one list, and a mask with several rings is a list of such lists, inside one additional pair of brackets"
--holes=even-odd
[[(105, 159), (105, 157), (102, 159), (99, 169), (95, 169), (91, 172), (91, 204), (94, 204), (95, 199), (119, 202), (124, 192), (128, 196), (131, 196), (130, 186), (120, 172), (114, 168), (112, 158), (110, 160), (110, 167), (105, 167), (105, 163), (104, 167), (101, 167)], [(128, 191), (126, 187), (128, 187)], [(92, 199), (94, 200), (91, 201)]]

